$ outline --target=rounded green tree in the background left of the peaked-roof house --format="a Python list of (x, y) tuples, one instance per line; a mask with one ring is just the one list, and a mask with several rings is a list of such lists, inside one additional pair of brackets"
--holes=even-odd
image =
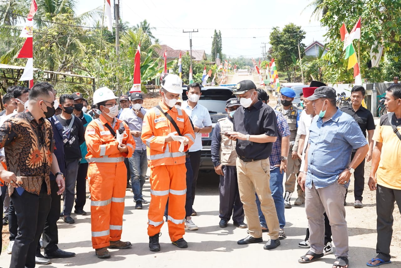
[(291, 68), (292, 57), (296, 55), (298, 58), (298, 44), (300, 44), (301, 57), (305, 55), (305, 45), (301, 41), (305, 38), (305, 31), (301, 30), (301, 26), (290, 23), (284, 26), (283, 30), (279, 27), (273, 27), (270, 33), (269, 58), (274, 58), (275, 64), (279, 71), (286, 71), (288, 81), (292, 81)]

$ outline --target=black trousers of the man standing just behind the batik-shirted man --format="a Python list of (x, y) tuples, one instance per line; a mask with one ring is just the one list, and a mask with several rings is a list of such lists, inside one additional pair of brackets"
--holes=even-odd
[[(57, 244), (59, 244), (59, 231), (57, 229), (57, 221), (60, 218), (61, 212), (61, 195), (57, 195), (59, 187), (56, 181), (50, 181), (51, 188), (51, 203), (49, 214), (47, 215), (45, 221), (45, 227), (43, 228), (43, 247), (45, 248), (45, 253), (51, 253), (59, 249)], [(41, 254), (41, 244), (38, 241), (38, 246), (36, 247), (36, 256)]]

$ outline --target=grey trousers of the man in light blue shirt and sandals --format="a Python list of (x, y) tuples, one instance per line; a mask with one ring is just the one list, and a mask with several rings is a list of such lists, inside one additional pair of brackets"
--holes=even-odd
[(305, 211), (308, 217), (310, 250), (322, 254), (324, 248), (324, 215), (330, 221), (336, 256), (348, 257), (348, 228), (345, 220), (345, 187), (337, 181), (324, 188), (305, 187)]

